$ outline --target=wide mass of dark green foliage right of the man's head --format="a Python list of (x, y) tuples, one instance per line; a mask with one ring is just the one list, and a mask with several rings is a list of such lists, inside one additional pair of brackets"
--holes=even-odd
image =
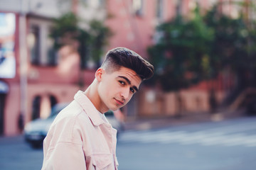
[(190, 21), (177, 16), (156, 28), (161, 36), (148, 52), (156, 68), (154, 80), (164, 91), (213, 79), (227, 67), (241, 84), (256, 76), (255, 21), (242, 13), (238, 18), (225, 16), (218, 11), (219, 5), (205, 16), (196, 8)]

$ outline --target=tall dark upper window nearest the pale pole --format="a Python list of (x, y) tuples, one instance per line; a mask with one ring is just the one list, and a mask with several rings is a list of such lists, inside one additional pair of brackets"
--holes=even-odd
[(40, 28), (31, 26), (28, 33), (28, 47), (30, 50), (31, 63), (40, 64)]

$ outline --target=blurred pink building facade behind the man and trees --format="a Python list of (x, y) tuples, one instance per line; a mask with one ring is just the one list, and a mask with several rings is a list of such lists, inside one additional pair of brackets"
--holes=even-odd
[[(203, 8), (209, 8), (217, 1), (199, 0), (198, 3)], [(78, 14), (79, 11), (85, 11), (78, 6), (77, 1), (73, 2), (73, 5), (77, 5), (74, 10)], [(183, 0), (182, 3), (178, 0), (97, 1), (97, 4), (100, 3), (105, 6), (102, 10), (105, 24), (113, 33), (106, 52), (114, 47), (128, 47), (147, 58), (147, 47), (156, 42), (156, 26), (174, 18), (177, 10), (189, 17), (196, 0)], [(93, 10), (97, 12), (98, 7)], [(0, 77), (0, 135), (16, 135), (22, 131), (22, 124), (34, 118), (46, 118), (55, 103), (72, 101), (76, 91), (85, 90), (92, 82), (95, 70), (80, 70), (78, 53), (72, 47), (64, 47), (54, 60), (49, 57), (53, 55), (51, 52), (55, 52), (53, 40), (48, 37), (51, 18), (28, 14), (25, 22), (22, 22), (21, 13), (2, 9), (0, 12), (14, 13), (16, 25), (11, 37), (15, 44), (15, 67), (12, 70), (15, 74), (8, 78)], [(26, 28), (23, 32), (22, 24)], [(25, 38), (22, 38), (22, 33), (25, 33)], [(0, 40), (3, 41), (3, 38)], [(24, 54), (25, 57), (22, 57)], [(221, 79), (223, 77), (214, 81), (220, 87), (217, 96), (219, 100), (225, 95)], [(80, 86), (81, 83), (83, 86)], [(183, 102), (186, 108), (184, 113), (208, 111), (207, 82), (181, 91), (181, 95), (186, 98)], [(163, 94), (159, 89), (144, 86), (131, 103), (124, 107), (123, 112), (127, 118), (175, 115), (178, 111), (175, 102), (174, 93)]]

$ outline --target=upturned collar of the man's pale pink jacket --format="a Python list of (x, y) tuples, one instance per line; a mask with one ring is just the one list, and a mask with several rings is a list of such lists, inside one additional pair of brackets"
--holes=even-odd
[(102, 118), (100, 118), (99, 111), (95, 108), (89, 98), (85, 96), (83, 91), (78, 91), (78, 93), (74, 96), (75, 101), (79, 103), (85, 113), (89, 116), (92, 124), (95, 126), (99, 126), (104, 123)]

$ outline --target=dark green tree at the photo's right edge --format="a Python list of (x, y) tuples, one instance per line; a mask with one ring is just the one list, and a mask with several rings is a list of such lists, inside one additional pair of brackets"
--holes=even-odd
[(226, 100), (230, 103), (247, 86), (256, 85), (256, 25), (255, 21), (249, 22), (242, 12), (238, 18), (223, 14), (218, 10), (221, 5), (225, 4), (217, 4), (208, 11), (204, 21), (208, 27), (215, 29), (210, 52), (210, 64), (216, 70), (215, 74), (230, 69), (238, 79), (235, 89)]

